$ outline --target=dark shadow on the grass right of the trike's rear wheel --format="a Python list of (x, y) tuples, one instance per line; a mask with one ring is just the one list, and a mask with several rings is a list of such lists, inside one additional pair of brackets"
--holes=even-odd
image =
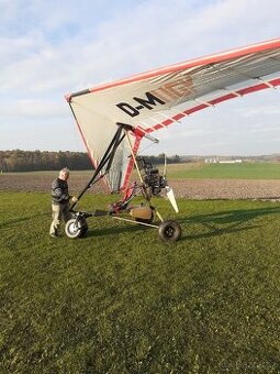
[[(280, 207), (260, 208), (260, 209), (238, 209), (238, 210), (226, 210), (216, 213), (198, 215), (192, 217), (186, 217), (179, 220), (182, 224), (188, 223), (201, 223), (209, 231), (187, 235), (183, 239), (202, 239), (214, 235), (221, 235), (226, 233), (236, 233), (246, 230), (253, 230), (259, 228), (260, 224), (248, 224), (250, 221), (258, 217), (270, 216), (280, 213)], [(247, 224), (245, 224), (247, 223)]]

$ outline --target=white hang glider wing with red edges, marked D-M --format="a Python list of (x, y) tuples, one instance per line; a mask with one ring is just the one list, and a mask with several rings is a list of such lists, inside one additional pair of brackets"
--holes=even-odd
[[(280, 86), (280, 38), (150, 70), (66, 96), (97, 165), (116, 130), (134, 128), (133, 151), (153, 131), (209, 107)], [(132, 170), (127, 142), (119, 146), (108, 182), (124, 187)]]

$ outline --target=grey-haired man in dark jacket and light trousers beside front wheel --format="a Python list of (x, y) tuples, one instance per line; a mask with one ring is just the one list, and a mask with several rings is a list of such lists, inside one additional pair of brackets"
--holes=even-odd
[(70, 204), (77, 202), (77, 197), (70, 197), (68, 191), (68, 178), (70, 170), (64, 167), (52, 184), (52, 217), (53, 221), (49, 228), (49, 235), (52, 238), (58, 237), (58, 229), (60, 227), (61, 219), (67, 222), (71, 218)]

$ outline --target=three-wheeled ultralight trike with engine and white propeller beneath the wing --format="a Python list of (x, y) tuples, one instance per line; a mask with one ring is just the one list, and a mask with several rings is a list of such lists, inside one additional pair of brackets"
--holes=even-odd
[[(124, 141), (124, 138), (126, 138), (131, 145), (128, 131), (132, 131), (133, 129), (123, 123), (117, 123), (117, 127), (119, 128), (113, 140), (97, 166), (92, 178), (79, 194), (78, 200), (92, 185), (109, 173), (116, 148), (121, 142)], [(175, 242), (180, 239), (180, 224), (173, 220), (164, 220), (156, 207), (152, 205), (153, 197), (158, 197), (161, 190), (166, 189), (167, 197), (175, 210), (178, 212), (172, 189), (167, 185), (166, 177), (159, 175), (158, 168), (154, 168), (153, 165), (146, 162), (144, 157), (136, 157), (132, 148), (131, 157), (133, 158), (139, 182), (134, 182), (128, 188), (126, 188), (123, 199), (112, 204), (108, 210), (96, 210), (91, 212), (76, 211), (74, 208), (77, 202), (75, 202), (71, 206), (74, 217), (66, 223), (65, 227), (67, 237), (72, 239), (83, 237), (88, 231), (87, 219), (89, 217), (110, 216), (113, 219), (158, 229), (158, 235), (165, 242)], [(138, 205), (133, 205), (133, 199), (135, 197), (142, 197), (143, 201)], [(159, 219), (158, 224), (153, 223), (155, 217)]]

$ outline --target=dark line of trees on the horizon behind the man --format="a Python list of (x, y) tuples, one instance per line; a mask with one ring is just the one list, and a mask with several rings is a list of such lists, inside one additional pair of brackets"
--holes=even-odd
[[(164, 164), (165, 155), (144, 156), (154, 165)], [(167, 158), (168, 163), (179, 163), (180, 157)], [(92, 169), (89, 156), (85, 152), (71, 151), (0, 151), (0, 173), (7, 172), (36, 172), (36, 170), (59, 170), (63, 167), (72, 170)]]

